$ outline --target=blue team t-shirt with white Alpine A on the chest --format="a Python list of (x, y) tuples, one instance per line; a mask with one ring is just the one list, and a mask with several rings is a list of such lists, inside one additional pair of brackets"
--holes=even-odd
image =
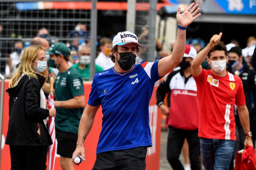
[(102, 107), (97, 154), (152, 146), (148, 106), (158, 79), (158, 61), (141, 62), (126, 73), (112, 67), (95, 74), (87, 103)]

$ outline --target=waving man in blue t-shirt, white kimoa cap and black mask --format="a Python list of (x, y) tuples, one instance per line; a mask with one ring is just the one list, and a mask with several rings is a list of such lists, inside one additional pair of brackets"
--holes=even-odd
[(182, 60), (187, 26), (200, 16), (197, 14), (200, 8), (196, 7), (197, 4), (193, 3), (182, 14), (178, 8), (179, 29), (172, 55), (157, 62), (134, 65), (136, 53), (141, 47), (137, 36), (124, 31), (114, 37), (110, 59), (115, 66), (94, 76), (89, 100), (79, 124), (73, 161), (77, 155), (82, 155), (85, 160), (84, 140), (101, 105), (102, 130), (92, 169), (146, 168), (147, 147), (152, 146), (149, 100), (155, 82)]

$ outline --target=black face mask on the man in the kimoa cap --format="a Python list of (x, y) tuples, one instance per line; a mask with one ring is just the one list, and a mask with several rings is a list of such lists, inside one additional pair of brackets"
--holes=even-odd
[[(118, 53), (118, 52), (117, 52)], [(135, 64), (136, 55), (132, 52), (124, 52), (118, 53), (120, 55), (120, 59), (117, 60), (119, 66), (123, 70), (129, 70), (133, 64)]]

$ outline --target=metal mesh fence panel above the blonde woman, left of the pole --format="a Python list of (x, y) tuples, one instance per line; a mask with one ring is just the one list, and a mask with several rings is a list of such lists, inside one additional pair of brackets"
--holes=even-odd
[(90, 7), (90, 0), (1, 0), (1, 73), (6, 77), (13, 75), (20, 54), (36, 36), (46, 38), (50, 45), (66, 43), (71, 49), (70, 61), (76, 61), (79, 46), (89, 46)]

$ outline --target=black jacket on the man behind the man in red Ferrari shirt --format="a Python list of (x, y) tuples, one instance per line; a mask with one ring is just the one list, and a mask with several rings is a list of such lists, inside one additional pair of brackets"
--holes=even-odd
[[(227, 67), (228, 72), (234, 74), (234, 70), (230, 66)], [(244, 95), (246, 106), (251, 113), (252, 110), (252, 101), (251, 101), (251, 92), (253, 94), (254, 103), (256, 103), (256, 84), (255, 84), (255, 74), (254, 70), (250, 68), (246, 63), (244, 63), (243, 70), (240, 71), (239, 77), (242, 79), (243, 87), (244, 87)], [(254, 106), (256, 106), (254, 104)]]

